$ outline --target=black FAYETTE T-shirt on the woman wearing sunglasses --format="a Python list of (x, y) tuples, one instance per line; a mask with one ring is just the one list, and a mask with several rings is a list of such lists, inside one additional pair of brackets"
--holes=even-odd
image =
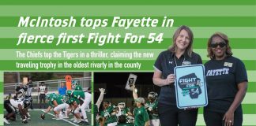
[[(234, 101), (238, 85), (247, 80), (247, 71), (243, 62), (236, 57), (224, 60), (210, 60), (205, 63), (208, 106), (205, 109), (225, 113)], [(238, 107), (242, 112), (241, 106)]]

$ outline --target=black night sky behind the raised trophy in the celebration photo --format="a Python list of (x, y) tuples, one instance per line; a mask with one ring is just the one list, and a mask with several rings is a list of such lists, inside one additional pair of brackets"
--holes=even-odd
[[(94, 72), (96, 98), (99, 95), (98, 88), (104, 86), (106, 86), (107, 90), (107, 94), (104, 95), (105, 98), (126, 98), (132, 96), (132, 91), (125, 89), (130, 73), (137, 75), (135, 85), (139, 96), (147, 97), (150, 91), (156, 91), (159, 94), (160, 87), (152, 83), (153, 72)], [(106, 85), (103, 83), (106, 83)]]

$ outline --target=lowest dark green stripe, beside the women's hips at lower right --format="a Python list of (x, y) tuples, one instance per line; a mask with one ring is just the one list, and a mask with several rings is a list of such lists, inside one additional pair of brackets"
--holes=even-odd
[[(256, 114), (256, 104), (242, 104), (243, 114)], [(199, 114), (203, 114), (203, 108), (199, 108)]]

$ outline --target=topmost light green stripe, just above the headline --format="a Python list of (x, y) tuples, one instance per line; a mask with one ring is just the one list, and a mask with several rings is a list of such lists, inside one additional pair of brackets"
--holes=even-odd
[[(0, 6), (0, 16), (255, 17), (255, 8), (256, 6)], [(183, 11), (178, 11), (180, 9)]]

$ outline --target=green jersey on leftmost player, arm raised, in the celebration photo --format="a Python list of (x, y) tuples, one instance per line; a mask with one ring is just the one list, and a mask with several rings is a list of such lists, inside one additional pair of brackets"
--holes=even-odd
[(117, 122), (117, 117), (115, 115), (111, 116), (111, 113), (113, 112), (114, 106), (108, 106), (107, 109), (104, 109), (101, 111), (100, 116), (105, 117), (105, 124), (111, 124)]

